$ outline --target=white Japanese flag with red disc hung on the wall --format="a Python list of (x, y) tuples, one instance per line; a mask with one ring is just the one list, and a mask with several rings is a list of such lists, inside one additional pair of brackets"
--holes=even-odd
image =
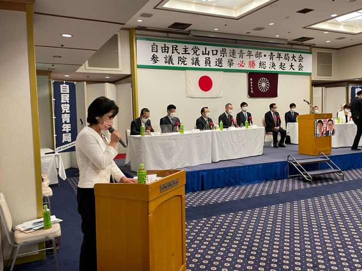
[(186, 70), (186, 97), (215, 98), (222, 96), (222, 71)]

